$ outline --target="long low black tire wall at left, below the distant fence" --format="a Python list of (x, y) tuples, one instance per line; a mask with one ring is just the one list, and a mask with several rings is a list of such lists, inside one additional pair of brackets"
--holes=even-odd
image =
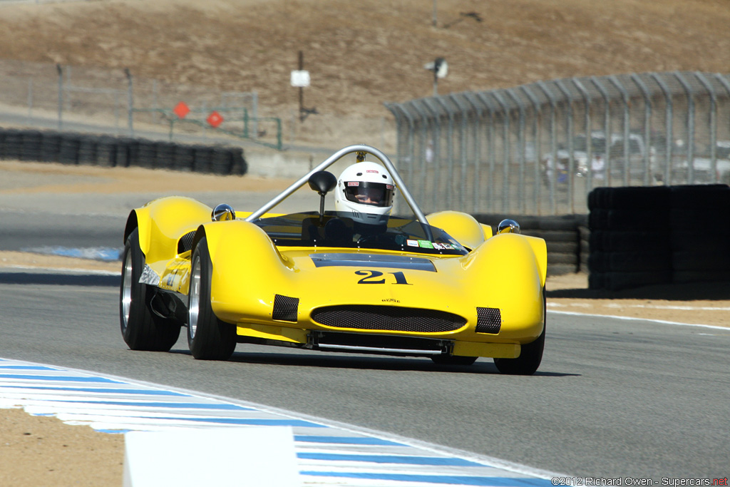
[(137, 166), (216, 175), (245, 175), (248, 171), (242, 147), (1, 128), (0, 159), (104, 167)]

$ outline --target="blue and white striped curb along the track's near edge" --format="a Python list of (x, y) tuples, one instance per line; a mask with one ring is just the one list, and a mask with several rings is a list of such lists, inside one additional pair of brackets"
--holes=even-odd
[(260, 404), (0, 358), (0, 408), (99, 432), (289, 426), (301, 485), (547, 487), (551, 472)]

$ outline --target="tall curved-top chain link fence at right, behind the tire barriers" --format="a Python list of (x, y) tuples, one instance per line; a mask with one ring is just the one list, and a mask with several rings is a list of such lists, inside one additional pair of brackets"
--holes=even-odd
[(575, 214), (596, 187), (730, 183), (723, 74), (570, 78), (385, 107), (426, 212)]

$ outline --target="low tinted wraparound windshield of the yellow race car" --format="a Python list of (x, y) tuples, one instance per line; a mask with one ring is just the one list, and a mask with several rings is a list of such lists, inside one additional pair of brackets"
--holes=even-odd
[(432, 238), (415, 220), (391, 217), (387, 225), (364, 225), (334, 211), (291, 213), (258, 218), (255, 225), (277, 246), (369, 248), (445, 255), (466, 255), (467, 250), (445, 231), (434, 226)]

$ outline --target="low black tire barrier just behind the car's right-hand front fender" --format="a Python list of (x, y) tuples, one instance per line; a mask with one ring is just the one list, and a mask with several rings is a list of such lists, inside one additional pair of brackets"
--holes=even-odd
[[(473, 215), (496, 232), (504, 215)], [(548, 247), (548, 275), (563, 275), (587, 269), (588, 218), (586, 215), (515, 216), (521, 233), (545, 239)]]

